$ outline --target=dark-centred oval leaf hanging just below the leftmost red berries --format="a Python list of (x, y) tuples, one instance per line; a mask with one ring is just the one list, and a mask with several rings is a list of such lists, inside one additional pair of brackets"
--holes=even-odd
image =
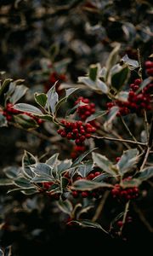
[(35, 129), (39, 126), (35, 119), (24, 113), (14, 115), (14, 121), (24, 129)]

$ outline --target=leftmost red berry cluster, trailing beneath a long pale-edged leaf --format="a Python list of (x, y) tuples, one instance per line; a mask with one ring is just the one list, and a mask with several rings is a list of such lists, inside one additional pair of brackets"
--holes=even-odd
[(37, 118), (36, 116), (32, 115), (31, 113), (22, 112), (20, 110), (14, 109), (14, 105), (11, 103), (8, 103), (6, 105), (6, 108), (2, 110), (3, 116), (6, 117), (8, 121), (11, 121), (13, 119), (14, 114), (24, 113), (28, 116), (30, 116), (32, 119), (35, 119), (37, 121), (38, 125), (41, 125), (43, 120)]

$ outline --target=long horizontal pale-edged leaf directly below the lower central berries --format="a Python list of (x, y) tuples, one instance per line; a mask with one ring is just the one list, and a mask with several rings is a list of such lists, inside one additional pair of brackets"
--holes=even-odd
[(109, 183), (97, 183), (97, 182), (82, 178), (75, 181), (72, 184), (71, 189), (80, 190), (80, 191), (87, 191), (87, 190), (91, 191), (93, 189), (111, 188), (111, 187), (113, 186)]

